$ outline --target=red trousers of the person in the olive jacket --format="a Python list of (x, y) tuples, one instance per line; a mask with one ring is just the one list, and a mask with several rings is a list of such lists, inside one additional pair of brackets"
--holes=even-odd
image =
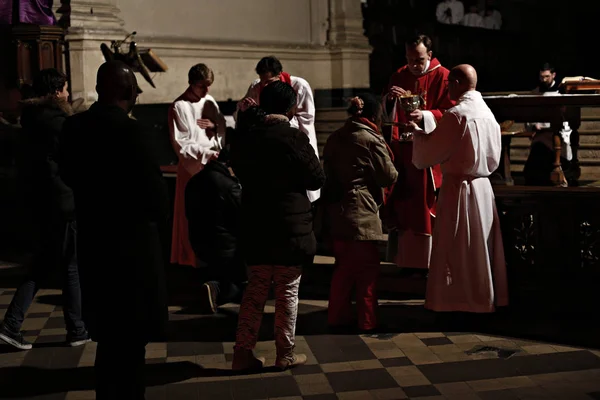
[(358, 327), (363, 330), (377, 327), (377, 278), (379, 249), (377, 242), (333, 242), (335, 271), (329, 292), (328, 323), (347, 325), (352, 320), (352, 289), (356, 288)]

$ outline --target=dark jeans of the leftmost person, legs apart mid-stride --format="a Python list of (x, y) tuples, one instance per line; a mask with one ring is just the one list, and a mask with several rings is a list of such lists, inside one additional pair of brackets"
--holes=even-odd
[(45, 222), (41, 226), (38, 249), (31, 265), (31, 271), (17, 291), (6, 310), (4, 327), (18, 333), (25, 319), (25, 313), (41, 284), (47, 283), (59, 269), (63, 286), (63, 315), (69, 338), (86, 335), (81, 319), (81, 289), (77, 268), (77, 225), (75, 221)]

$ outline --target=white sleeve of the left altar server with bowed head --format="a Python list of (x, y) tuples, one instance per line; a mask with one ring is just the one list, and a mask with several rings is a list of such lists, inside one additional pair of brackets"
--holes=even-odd
[(192, 110), (186, 110), (184, 102), (178, 102), (174, 107), (173, 139), (179, 147), (179, 154), (184, 159), (195, 159), (206, 163), (218, 152), (218, 138), (209, 139), (206, 131), (201, 129), (194, 117)]

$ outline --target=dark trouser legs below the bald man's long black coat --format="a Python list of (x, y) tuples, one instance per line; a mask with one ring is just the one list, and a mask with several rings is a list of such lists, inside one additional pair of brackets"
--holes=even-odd
[(146, 343), (123, 337), (99, 341), (94, 364), (96, 399), (143, 400), (145, 365)]

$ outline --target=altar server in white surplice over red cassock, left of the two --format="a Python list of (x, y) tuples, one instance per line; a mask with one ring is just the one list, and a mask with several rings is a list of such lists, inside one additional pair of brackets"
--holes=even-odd
[(216, 100), (208, 94), (214, 78), (213, 71), (205, 64), (194, 65), (188, 72), (189, 87), (169, 108), (171, 142), (179, 157), (171, 262), (192, 267), (199, 265), (188, 235), (185, 187), (210, 160), (217, 159), (225, 137), (225, 118)]

